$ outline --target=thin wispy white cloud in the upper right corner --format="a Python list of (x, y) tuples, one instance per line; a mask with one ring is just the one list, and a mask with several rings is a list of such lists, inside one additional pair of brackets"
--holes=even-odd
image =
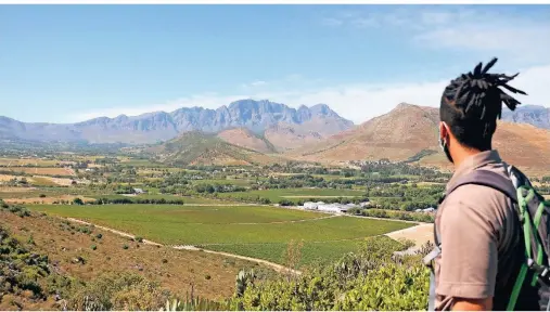
[(522, 15), (502, 8), (406, 5), (392, 8), (388, 12), (368, 9), (336, 16), (341, 22), (338, 25), (399, 29), (409, 43), (423, 49), (500, 55), (513, 58), (515, 64), (548, 61), (550, 20), (541, 12), (530, 11), (529, 15)]

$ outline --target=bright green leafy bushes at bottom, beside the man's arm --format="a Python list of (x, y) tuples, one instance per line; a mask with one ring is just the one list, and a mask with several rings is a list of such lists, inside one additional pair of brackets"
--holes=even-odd
[[(387, 238), (387, 237), (386, 237)], [(394, 257), (404, 248), (371, 238), (359, 253), (299, 276), (241, 283), (231, 310), (425, 310), (429, 271), (421, 255)]]

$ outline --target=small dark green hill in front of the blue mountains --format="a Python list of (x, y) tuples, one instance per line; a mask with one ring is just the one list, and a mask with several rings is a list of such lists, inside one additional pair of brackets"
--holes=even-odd
[(169, 165), (265, 165), (282, 158), (233, 145), (213, 133), (186, 132), (166, 143), (149, 147), (149, 154)]

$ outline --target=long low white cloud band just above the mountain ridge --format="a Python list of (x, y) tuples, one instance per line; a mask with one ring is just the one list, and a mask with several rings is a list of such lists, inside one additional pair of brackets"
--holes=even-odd
[[(498, 63), (497, 63), (498, 66)], [(499, 69), (498, 72), (500, 72)], [(497, 70), (496, 70), (497, 72)], [(458, 76), (459, 73), (457, 73)], [(508, 74), (515, 74), (510, 72)], [(443, 89), (450, 81), (425, 81), (414, 83), (372, 84), (354, 83), (334, 86), (330, 88), (300, 88), (285, 89), (284, 91), (250, 92), (234, 95), (219, 95), (216, 93), (179, 99), (157, 105), (127, 106), (110, 108), (106, 110), (87, 112), (74, 116), (77, 120), (86, 120), (100, 116), (116, 117), (120, 114), (136, 116), (143, 113), (164, 110), (172, 112), (181, 107), (202, 106), (217, 108), (233, 101), (242, 99), (270, 100), (284, 103), (293, 107), (302, 104), (315, 105), (325, 103), (341, 116), (356, 123), (363, 122), (372, 117), (392, 110), (397, 104), (407, 102), (410, 104), (434, 106), (439, 105)], [(550, 64), (530, 67), (520, 70), (520, 76), (510, 84), (527, 92), (528, 96), (515, 94), (524, 104), (537, 104), (550, 107), (550, 99), (547, 95), (548, 80), (550, 79)], [(271, 83), (270, 83), (271, 84)]]

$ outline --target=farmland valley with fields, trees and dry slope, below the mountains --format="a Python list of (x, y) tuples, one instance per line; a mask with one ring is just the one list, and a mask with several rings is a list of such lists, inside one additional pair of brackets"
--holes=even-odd
[[(0, 207), (8, 207), (0, 208), (2, 229), (29, 242), (33, 252), (48, 255), (68, 276), (94, 283), (90, 281), (103, 281), (104, 273), (138, 272), (178, 298), (193, 287), (204, 298), (234, 298), (235, 275), (252, 268), (261, 281), (257, 285), (305, 278), (312, 283), (304, 284), (307, 289), (325, 289), (315, 281), (334, 281), (337, 275), (331, 270), (350, 268), (355, 262), (347, 263), (349, 259), (378, 259), (380, 249), (392, 255), (431, 240), (431, 224), (415, 224), (433, 222), (434, 214), (423, 209), (437, 204), (449, 179), (429, 168), (392, 162), (355, 164), (350, 169), (302, 164), (176, 166), (112, 154), (48, 157), (0, 164)], [(60, 170), (65, 173), (57, 174)], [(549, 194), (549, 181), (550, 177), (536, 181), (541, 194)], [(297, 207), (311, 200), (342, 210), (332, 214)], [(396, 242), (402, 238), (411, 240)], [(87, 263), (75, 264), (75, 257)], [(393, 260), (381, 263), (388, 261)], [(398, 265), (402, 272), (410, 268)], [(299, 270), (304, 277), (293, 277), (284, 268)], [(319, 269), (327, 271), (319, 275)], [(13, 300), (26, 302), (22, 296)]]

